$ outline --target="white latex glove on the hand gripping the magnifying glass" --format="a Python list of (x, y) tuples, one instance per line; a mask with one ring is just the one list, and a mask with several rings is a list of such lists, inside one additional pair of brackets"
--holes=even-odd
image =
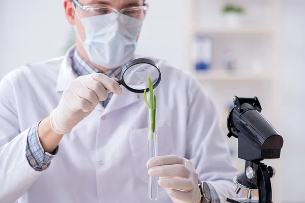
[(63, 92), (58, 106), (51, 112), (50, 122), (54, 132), (69, 133), (72, 128), (106, 100), (109, 92), (122, 91), (116, 79), (95, 73), (80, 76), (70, 82)]

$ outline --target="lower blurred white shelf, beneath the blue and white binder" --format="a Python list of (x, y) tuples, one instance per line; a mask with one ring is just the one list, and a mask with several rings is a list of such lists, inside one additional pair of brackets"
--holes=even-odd
[(240, 72), (229, 72), (221, 70), (196, 71), (193, 72), (200, 82), (204, 81), (271, 81), (269, 74), (249, 74)]

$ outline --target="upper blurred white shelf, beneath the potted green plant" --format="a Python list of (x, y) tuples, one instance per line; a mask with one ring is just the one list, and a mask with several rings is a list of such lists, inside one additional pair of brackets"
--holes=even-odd
[(273, 33), (272, 27), (216, 27), (216, 28), (197, 28), (195, 29), (195, 35), (251, 35), (251, 34), (265, 34)]

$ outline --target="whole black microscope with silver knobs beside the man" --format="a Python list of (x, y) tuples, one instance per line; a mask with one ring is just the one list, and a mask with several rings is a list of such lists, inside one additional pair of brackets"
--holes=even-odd
[[(248, 190), (247, 197), (228, 197), (232, 203), (272, 203), (271, 181), (276, 174), (272, 166), (267, 166), (264, 159), (280, 158), (284, 140), (279, 132), (261, 114), (261, 105), (257, 97), (233, 97), (234, 108), (227, 119), (228, 137), (238, 139), (238, 158), (246, 160), (245, 172), (233, 178), (237, 186)], [(258, 190), (258, 197), (252, 192)]]

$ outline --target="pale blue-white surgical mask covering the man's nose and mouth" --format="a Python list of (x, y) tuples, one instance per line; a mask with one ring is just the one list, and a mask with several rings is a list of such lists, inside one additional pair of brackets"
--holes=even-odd
[[(75, 10), (74, 10), (75, 11)], [(129, 62), (136, 49), (142, 22), (124, 14), (104, 14), (80, 18), (86, 39), (76, 33), (89, 59), (107, 69), (115, 69)]]

